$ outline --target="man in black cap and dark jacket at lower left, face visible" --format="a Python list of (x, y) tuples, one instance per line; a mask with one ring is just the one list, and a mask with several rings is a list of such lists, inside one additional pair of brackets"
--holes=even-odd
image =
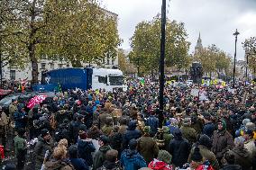
[(41, 135), (38, 137), (38, 142), (34, 148), (34, 157), (35, 157), (35, 169), (40, 169), (44, 160), (44, 156), (47, 150), (51, 150), (51, 141), (50, 141), (50, 132), (49, 130), (41, 130)]

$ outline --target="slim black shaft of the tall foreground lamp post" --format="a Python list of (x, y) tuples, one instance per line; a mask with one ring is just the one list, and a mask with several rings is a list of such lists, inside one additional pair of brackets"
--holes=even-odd
[(164, 91), (164, 56), (165, 56), (166, 0), (161, 5), (161, 39), (160, 39), (160, 111), (159, 126), (163, 122), (163, 91)]

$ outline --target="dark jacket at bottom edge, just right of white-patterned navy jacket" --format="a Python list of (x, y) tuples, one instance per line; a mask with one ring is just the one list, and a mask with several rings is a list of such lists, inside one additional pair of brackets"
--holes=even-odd
[(105, 153), (112, 149), (109, 145), (102, 146), (98, 149), (94, 156), (94, 163), (93, 163), (93, 169), (96, 170), (97, 168), (103, 166), (103, 163), (105, 162)]

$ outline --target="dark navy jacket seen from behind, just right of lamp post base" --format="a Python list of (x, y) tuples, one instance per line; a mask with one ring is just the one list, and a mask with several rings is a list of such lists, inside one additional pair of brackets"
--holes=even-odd
[(174, 139), (169, 142), (169, 154), (172, 156), (172, 162), (175, 166), (181, 167), (187, 163), (187, 158), (190, 152), (190, 145), (187, 139), (182, 136), (174, 136)]

